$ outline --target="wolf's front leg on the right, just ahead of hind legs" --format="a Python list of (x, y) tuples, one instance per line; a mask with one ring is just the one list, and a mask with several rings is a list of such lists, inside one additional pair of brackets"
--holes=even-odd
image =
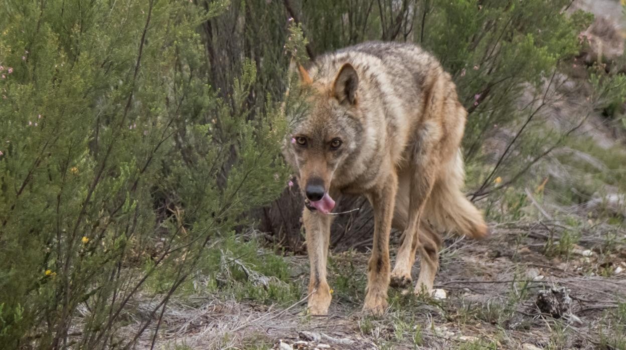
[(391, 174), (369, 194), (374, 208), (374, 245), (367, 265), (367, 291), (363, 309), (377, 315), (383, 314), (388, 305), (389, 232), (397, 190), (398, 178)]

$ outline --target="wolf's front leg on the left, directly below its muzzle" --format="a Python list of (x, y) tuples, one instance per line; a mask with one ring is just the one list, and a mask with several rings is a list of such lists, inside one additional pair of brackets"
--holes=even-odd
[(314, 315), (328, 314), (331, 305), (331, 289), (326, 282), (326, 259), (331, 236), (331, 215), (311, 212), (304, 208), (302, 214), (307, 237), (310, 263), (309, 312)]

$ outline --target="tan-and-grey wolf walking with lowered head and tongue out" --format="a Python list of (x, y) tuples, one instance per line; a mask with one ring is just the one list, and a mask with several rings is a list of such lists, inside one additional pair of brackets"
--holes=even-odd
[[(387, 289), (432, 292), (439, 268), (440, 230), (480, 239), (481, 212), (461, 192), (459, 144), (467, 112), (456, 86), (432, 54), (414, 44), (367, 42), (297, 67), (307, 110), (290, 123), (283, 153), (305, 196), (302, 222), (310, 260), (308, 310), (325, 315), (326, 279), (335, 200), (364, 195), (374, 212), (363, 309), (382, 314)], [(389, 233), (400, 230), (393, 270)]]

